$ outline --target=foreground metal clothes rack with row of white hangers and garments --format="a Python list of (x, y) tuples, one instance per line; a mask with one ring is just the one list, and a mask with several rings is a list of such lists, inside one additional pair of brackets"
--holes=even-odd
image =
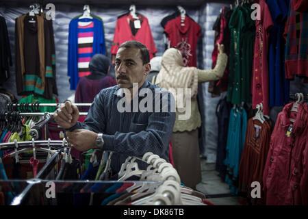
[[(118, 172), (117, 179), (91, 180), (59, 179), (62, 162), (72, 161), (70, 146), (63, 141), (28, 141), (0, 144), (0, 150), (9, 151), (0, 159), (0, 193), (5, 193), (6, 205), (206, 205), (205, 195), (180, 184), (175, 168), (166, 160), (149, 152), (143, 157), (128, 157)], [(31, 150), (31, 151), (29, 151)], [(95, 155), (98, 151), (99, 155)], [(25, 164), (21, 153), (32, 153), (34, 159), (45, 163), (38, 173), (29, 179), (12, 179), (3, 177), (4, 166)], [(38, 157), (44, 153), (45, 157)], [(110, 168), (112, 151), (94, 150), (92, 162), (100, 160), (99, 166), (105, 164), (103, 172)], [(5, 162), (10, 157), (14, 164)], [(29, 156), (26, 156), (29, 158)], [(31, 157), (32, 158), (32, 157)], [(136, 160), (149, 164), (146, 170), (139, 170)], [(61, 164), (60, 164), (61, 161)], [(7, 169), (6, 168), (6, 169)], [(10, 168), (8, 168), (10, 169)], [(12, 170), (14, 172), (14, 170)], [(53, 176), (53, 177), (51, 177)], [(131, 177), (135, 177), (131, 179)], [(134, 180), (133, 180), (134, 179)], [(92, 188), (81, 191), (80, 188)], [(97, 190), (94, 190), (96, 188)], [(105, 188), (102, 190), (101, 188)], [(122, 190), (121, 190), (122, 189)], [(0, 196), (1, 197), (1, 196)], [(90, 200), (90, 203), (88, 201)], [(86, 201), (86, 203), (84, 202)], [(0, 202), (1, 203), (1, 202)]]

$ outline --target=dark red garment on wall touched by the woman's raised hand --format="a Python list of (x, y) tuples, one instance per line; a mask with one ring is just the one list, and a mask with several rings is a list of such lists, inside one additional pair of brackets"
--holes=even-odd
[[(217, 43), (224, 45), (224, 53), (229, 55), (230, 53), (230, 29), (229, 29), (229, 19), (232, 14), (232, 10), (227, 7), (222, 8), (222, 13), (217, 17), (216, 22), (213, 25), (215, 30), (215, 39), (214, 39), (214, 50), (211, 53), (212, 59), (212, 68), (216, 66), (217, 56), (218, 56), (218, 45)], [(224, 75), (222, 78), (216, 81), (209, 82), (208, 92), (211, 93), (211, 96), (220, 96), (220, 92), (228, 90), (228, 71), (229, 63), (227, 63), (227, 68), (224, 70)]]

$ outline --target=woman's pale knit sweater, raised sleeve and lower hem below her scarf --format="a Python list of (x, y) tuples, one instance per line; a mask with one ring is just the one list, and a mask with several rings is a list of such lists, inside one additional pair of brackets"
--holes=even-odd
[[(198, 69), (198, 83), (204, 83), (208, 81), (215, 81), (222, 77), (224, 70), (227, 66), (228, 56), (226, 53), (218, 54), (218, 60), (215, 68), (210, 70)], [(175, 119), (175, 126), (173, 132), (176, 131), (192, 131), (201, 126), (201, 114), (198, 110), (198, 103), (196, 98), (191, 102), (191, 114), (188, 120), (179, 120), (179, 116), (185, 114), (185, 112), (178, 112)]]

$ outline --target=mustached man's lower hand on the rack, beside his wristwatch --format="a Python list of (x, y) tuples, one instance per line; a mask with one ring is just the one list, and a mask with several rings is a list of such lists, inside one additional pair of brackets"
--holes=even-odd
[(88, 129), (75, 129), (74, 131), (66, 131), (66, 140), (68, 144), (78, 151), (88, 151), (96, 148), (97, 133)]

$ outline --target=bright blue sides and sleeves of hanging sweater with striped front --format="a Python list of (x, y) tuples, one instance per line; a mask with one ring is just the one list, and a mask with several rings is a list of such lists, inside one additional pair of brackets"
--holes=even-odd
[(74, 18), (70, 21), (68, 28), (68, 71), (67, 75), (70, 77), (70, 90), (76, 90), (79, 81), (78, 76), (78, 21), (93, 21), (94, 22), (94, 36), (93, 36), (93, 52), (91, 57), (96, 53), (105, 55), (105, 37), (103, 31), (103, 22), (97, 18)]

